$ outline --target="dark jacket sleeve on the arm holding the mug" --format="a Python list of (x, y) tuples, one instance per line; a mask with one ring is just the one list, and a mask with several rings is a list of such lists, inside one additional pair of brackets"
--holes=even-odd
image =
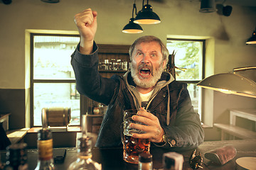
[(186, 84), (181, 89), (177, 101), (175, 123), (162, 126), (167, 141), (164, 147), (175, 150), (192, 149), (203, 142), (204, 132), (198, 113), (195, 113), (191, 104)]

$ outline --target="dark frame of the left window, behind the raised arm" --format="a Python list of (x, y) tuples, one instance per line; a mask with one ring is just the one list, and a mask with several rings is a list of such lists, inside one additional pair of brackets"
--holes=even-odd
[[(33, 59), (34, 59), (34, 36), (61, 36), (61, 37), (80, 37), (78, 34), (58, 34), (58, 33), (30, 33), (30, 85), (31, 85), (31, 93), (30, 93), (30, 116), (31, 116), (31, 127), (41, 127), (40, 125), (34, 125), (34, 111), (33, 111), (33, 106), (34, 106), (34, 84), (36, 83), (75, 83), (75, 78), (74, 79), (34, 79), (33, 78)], [(71, 59), (70, 59), (71, 60)], [(81, 120), (81, 113), (83, 111), (84, 107), (82, 107), (82, 98), (80, 96), (80, 120)], [(69, 125), (69, 126), (77, 126), (77, 125)]]

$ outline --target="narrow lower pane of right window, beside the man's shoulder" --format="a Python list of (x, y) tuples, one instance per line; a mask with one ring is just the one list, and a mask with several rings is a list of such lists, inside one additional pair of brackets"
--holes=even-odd
[(201, 118), (201, 90), (196, 84), (188, 84), (188, 93), (191, 97), (191, 102), (194, 111), (200, 115)]

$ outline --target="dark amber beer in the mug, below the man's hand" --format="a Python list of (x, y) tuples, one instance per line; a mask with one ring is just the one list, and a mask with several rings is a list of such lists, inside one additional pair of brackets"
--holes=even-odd
[(123, 158), (125, 162), (138, 164), (139, 154), (149, 153), (149, 139), (138, 139), (131, 135), (124, 135)]

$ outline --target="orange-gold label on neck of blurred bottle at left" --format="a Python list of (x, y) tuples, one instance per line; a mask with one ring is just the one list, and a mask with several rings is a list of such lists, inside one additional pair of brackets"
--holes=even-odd
[(38, 140), (38, 157), (41, 161), (53, 158), (53, 139)]

